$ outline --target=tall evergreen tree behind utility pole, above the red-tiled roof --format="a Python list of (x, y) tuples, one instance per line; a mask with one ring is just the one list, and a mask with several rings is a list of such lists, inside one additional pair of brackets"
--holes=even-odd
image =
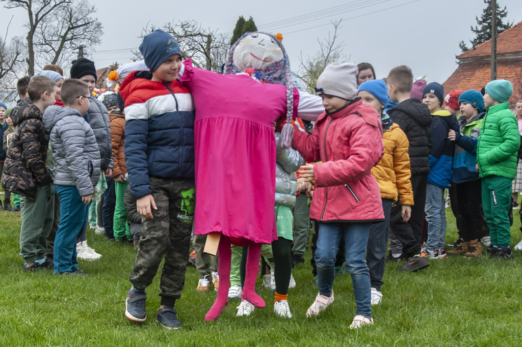
[[(470, 41), (471, 48), (477, 47), (481, 43), (484, 43), (491, 39), (491, 0), (484, 0), (484, 4), (486, 4), (486, 8), (482, 10), (482, 15), (480, 19), (475, 17), (477, 20), (477, 26), (473, 28), (471, 26), (471, 31), (475, 33), (475, 38)], [(496, 33), (497, 35), (501, 32), (511, 28), (513, 26), (513, 22), (504, 23), (502, 21), (503, 18), (507, 17), (507, 9), (504, 6), (503, 9), (500, 9), (499, 3), (496, 4)], [(468, 46), (464, 42), (464, 40), (459, 42), (459, 47), (462, 52), (468, 51)]]

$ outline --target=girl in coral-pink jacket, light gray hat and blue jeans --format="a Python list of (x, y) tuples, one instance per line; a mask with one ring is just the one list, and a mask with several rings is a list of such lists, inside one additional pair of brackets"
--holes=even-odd
[(295, 130), (292, 140), (307, 162), (322, 162), (301, 167), (301, 177), (317, 184), (310, 217), (319, 223), (315, 251), (319, 293), (306, 316), (319, 315), (334, 301), (335, 256), (344, 236), (345, 266), (357, 303), (351, 329), (373, 324), (364, 254), (370, 226), (384, 219), (379, 187), (370, 172), (383, 155), (382, 126), (377, 111), (356, 97), (357, 71), (350, 63), (325, 68), (315, 90), (326, 111), (311, 135)]

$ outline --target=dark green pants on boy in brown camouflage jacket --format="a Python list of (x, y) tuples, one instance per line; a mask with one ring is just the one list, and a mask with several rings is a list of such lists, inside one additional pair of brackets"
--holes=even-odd
[(51, 232), (54, 216), (54, 184), (37, 188), (34, 202), (21, 198), (20, 255), (26, 263), (43, 259), (46, 238)]

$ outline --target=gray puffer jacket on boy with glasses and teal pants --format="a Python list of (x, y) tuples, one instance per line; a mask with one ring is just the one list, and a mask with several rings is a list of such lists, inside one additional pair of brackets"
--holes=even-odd
[(50, 106), (43, 125), (56, 162), (54, 184), (74, 185), (81, 196), (92, 194), (100, 179), (100, 150), (89, 124), (74, 108)]

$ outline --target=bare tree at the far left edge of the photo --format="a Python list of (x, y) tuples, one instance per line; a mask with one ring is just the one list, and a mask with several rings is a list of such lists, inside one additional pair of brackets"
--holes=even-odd
[(7, 25), (4, 38), (0, 37), (0, 100), (4, 102), (16, 100), (17, 72), (23, 71), (26, 51), (23, 38), (17, 36), (7, 40), (11, 20)]

